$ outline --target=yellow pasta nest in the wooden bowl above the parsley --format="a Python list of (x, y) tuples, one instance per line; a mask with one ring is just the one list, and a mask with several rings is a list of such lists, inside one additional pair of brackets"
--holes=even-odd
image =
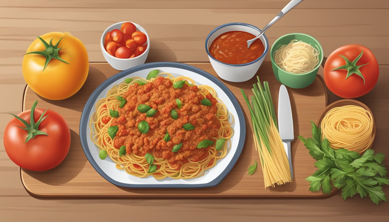
[(373, 143), (373, 117), (359, 106), (332, 108), (322, 119), (321, 130), (333, 149), (344, 148), (361, 154)]

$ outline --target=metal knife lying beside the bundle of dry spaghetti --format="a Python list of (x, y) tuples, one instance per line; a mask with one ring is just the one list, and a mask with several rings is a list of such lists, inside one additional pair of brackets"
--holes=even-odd
[(284, 85), (280, 86), (280, 91), (278, 94), (278, 129), (282, 143), (284, 143), (286, 155), (289, 160), (289, 167), (291, 169), (291, 177), (293, 178), (291, 158), (291, 141), (294, 140), (293, 117), (291, 101), (289, 100), (289, 94)]

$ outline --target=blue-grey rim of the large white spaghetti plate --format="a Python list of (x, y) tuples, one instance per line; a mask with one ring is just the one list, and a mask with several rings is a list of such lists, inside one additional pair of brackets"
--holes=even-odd
[[(217, 86), (219, 86), (224, 91), (224, 93), (226, 93), (228, 98), (233, 103), (235, 109), (237, 110), (238, 119), (240, 120), (239, 121), (240, 122), (240, 132), (235, 132), (235, 133), (240, 133), (240, 138), (239, 138), (239, 141), (238, 141), (237, 150), (236, 150), (234, 156), (232, 157), (230, 163), (228, 163), (227, 167), (223, 170), (223, 172), (219, 176), (217, 176), (214, 180), (209, 182), (209, 183), (206, 183), (206, 184), (126, 184), (126, 183), (118, 182), (118, 181), (112, 179), (106, 173), (103, 172), (103, 170), (100, 168), (100, 166), (93, 159), (93, 157), (91, 155), (91, 152), (88, 149), (87, 139), (88, 139), (89, 136), (86, 135), (86, 129), (87, 129), (87, 127), (89, 127), (88, 126), (88, 116), (89, 116), (89, 113), (91, 112), (91, 110), (93, 108), (93, 104), (97, 100), (98, 95), (100, 93), (102, 93), (102, 91), (107, 86), (109, 86), (110, 84), (112, 84), (112, 82), (115, 82), (116, 80), (123, 79), (124, 77), (126, 77), (126, 76), (128, 76), (128, 75), (130, 75), (131, 73), (134, 73), (134, 72), (138, 72), (138, 71), (141, 71), (141, 70), (144, 70), (144, 69), (147, 69), (147, 68), (156, 68), (156, 67), (180, 68), (180, 69), (188, 70), (188, 71), (191, 71), (191, 72), (195, 72), (195, 73), (197, 73), (199, 75), (202, 75), (202, 76), (206, 77), (207, 79), (210, 79)], [(82, 145), (82, 149), (84, 150), (85, 156), (88, 158), (89, 163), (91, 163), (93, 168), (95, 168), (95, 170), (103, 178), (108, 180), (110, 183), (112, 183), (114, 185), (117, 185), (117, 186), (120, 186), (120, 187), (130, 187), (130, 188), (199, 188), (199, 187), (213, 187), (213, 186), (216, 186), (217, 184), (219, 184), (224, 179), (224, 177), (226, 177), (228, 175), (228, 173), (230, 173), (230, 171), (232, 170), (233, 166), (237, 162), (237, 160), (238, 160), (238, 158), (240, 156), (240, 153), (242, 152), (243, 146), (244, 146), (245, 136), (246, 136), (246, 123), (245, 123), (244, 114), (243, 114), (242, 108), (240, 107), (240, 105), (238, 103), (237, 98), (231, 92), (231, 90), (228, 89), (228, 87), (226, 85), (224, 85), (219, 79), (217, 79), (213, 75), (211, 75), (211, 74), (209, 74), (209, 73), (207, 73), (207, 72), (205, 72), (205, 71), (203, 71), (203, 70), (201, 70), (199, 68), (196, 68), (196, 67), (191, 66), (191, 65), (183, 64), (183, 63), (174, 63), (174, 62), (146, 63), (146, 64), (138, 65), (138, 66), (135, 66), (133, 68), (130, 68), (128, 70), (124, 70), (122, 72), (119, 72), (119, 73), (113, 75), (109, 79), (105, 80), (102, 84), (100, 84), (100, 86), (98, 86), (95, 89), (95, 91), (93, 91), (93, 93), (89, 97), (88, 101), (86, 101), (85, 107), (82, 110), (81, 120), (80, 120), (80, 140), (81, 140), (81, 145)]]

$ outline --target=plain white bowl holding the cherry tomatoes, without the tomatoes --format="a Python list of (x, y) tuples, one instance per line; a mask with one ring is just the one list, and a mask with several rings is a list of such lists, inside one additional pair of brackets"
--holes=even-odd
[(145, 33), (145, 35), (147, 37), (147, 48), (146, 48), (146, 51), (144, 51), (140, 56), (137, 56), (135, 58), (119, 59), (119, 58), (116, 58), (115, 56), (111, 56), (105, 50), (105, 48), (104, 48), (105, 35), (107, 35), (107, 33), (109, 31), (112, 31), (114, 29), (120, 30), (121, 25), (123, 23), (125, 23), (125, 22), (127, 22), (127, 21), (118, 22), (118, 23), (115, 23), (115, 24), (109, 26), (103, 32), (103, 35), (101, 36), (101, 40), (100, 40), (100, 47), (101, 47), (101, 51), (103, 52), (103, 56), (104, 56), (105, 60), (107, 60), (109, 65), (111, 65), (116, 70), (126, 70), (126, 69), (132, 68), (134, 66), (144, 64), (145, 61), (146, 61), (147, 55), (149, 54), (149, 51), (150, 51), (150, 38), (149, 38), (149, 35), (147, 34), (147, 31), (142, 26), (140, 26), (139, 24), (133, 23), (133, 22), (131, 22), (131, 23), (134, 24), (135, 27), (137, 27), (137, 31), (141, 31), (141, 32)]

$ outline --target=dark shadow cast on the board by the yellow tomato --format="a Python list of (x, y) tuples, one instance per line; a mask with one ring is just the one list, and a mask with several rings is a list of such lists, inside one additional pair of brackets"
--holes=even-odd
[(98, 70), (93, 66), (89, 66), (88, 77), (86, 78), (84, 85), (73, 96), (70, 96), (69, 98), (66, 98), (64, 100), (49, 100), (39, 95), (37, 96), (39, 96), (40, 99), (46, 101), (47, 103), (51, 103), (58, 107), (64, 107), (67, 109), (82, 112), (82, 109), (84, 109), (84, 105), (88, 100), (89, 96), (91, 96), (93, 91), (95, 91), (95, 89), (106, 79), (107, 76), (104, 75), (102, 71)]

